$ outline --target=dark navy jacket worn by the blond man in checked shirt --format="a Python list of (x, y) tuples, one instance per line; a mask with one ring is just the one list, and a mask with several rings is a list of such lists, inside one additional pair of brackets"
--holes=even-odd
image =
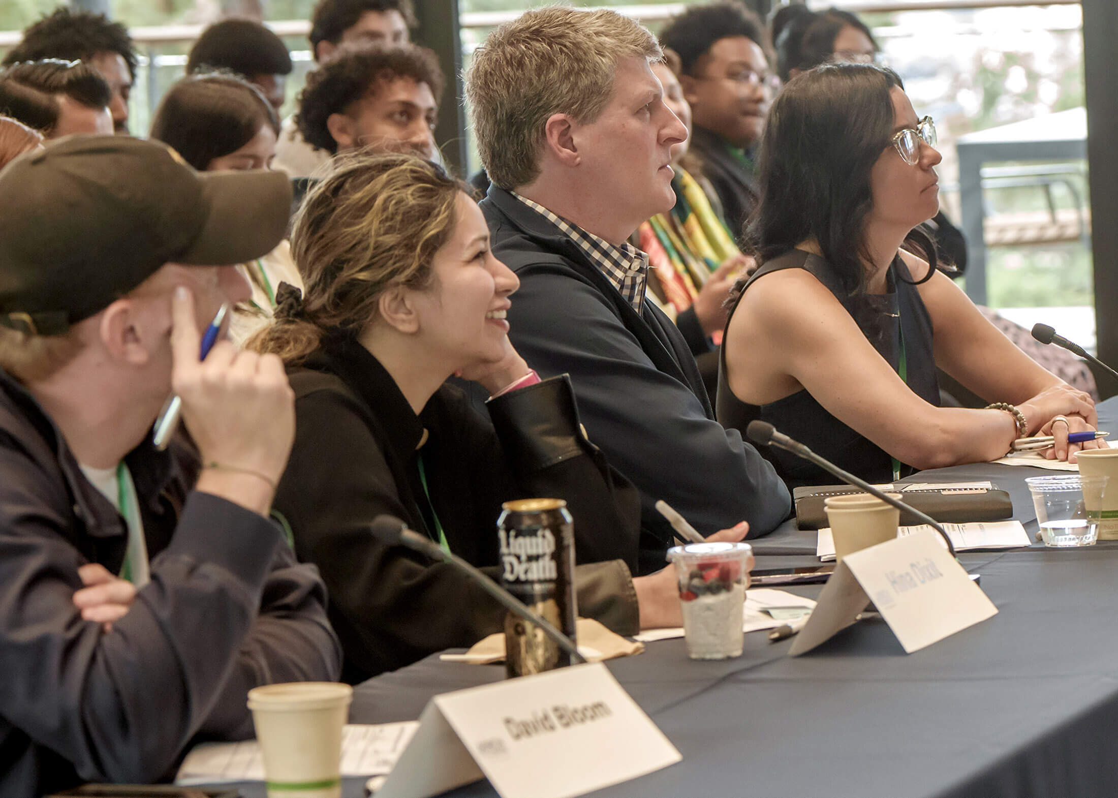
[(520, 277), (513, 344), (541, 376), (570, 374), (590, 439), (641, 491), (641, 572), (663, 566), (671, 540), (659, 498), (703, 534), (741, 520), (752, 538), (776, 529), (790, 511), (787, 488), (714, 420), (667, 316), (650, 302), (638, 315), (578, 245), (508, 191), (492, 187), (481, 207), (494, 254)]

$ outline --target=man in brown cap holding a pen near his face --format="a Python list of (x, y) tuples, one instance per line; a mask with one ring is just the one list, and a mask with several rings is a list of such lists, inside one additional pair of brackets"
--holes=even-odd
[[(114, 136), (0, 172), (0, 795), (158, 780), (196, 735), (252, 735), (250, 687), (338, 676), (322, 582), (268, 520), (283, 367), (199, 357), (249, 295), (224, 264), (288, 202), (281, 174)], [(172, 390), (197, 454), (151, 443)]]

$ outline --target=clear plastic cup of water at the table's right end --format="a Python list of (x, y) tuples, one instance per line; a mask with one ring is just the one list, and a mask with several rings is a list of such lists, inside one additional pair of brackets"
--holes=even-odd
[[(1102, 519), (1105, 476), (1032, 476), (1025, 479), (1033, 496), (1044, 545), (1093, 545)], [(1088, 511), (1090, 506), (1092, 510)]]

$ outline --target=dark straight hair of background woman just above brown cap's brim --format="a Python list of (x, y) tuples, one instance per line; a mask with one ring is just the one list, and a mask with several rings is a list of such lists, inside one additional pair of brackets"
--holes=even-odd
[(180, 79), (159, 104), (151, 137), (170, 144), (198, 171), (236, 152), (280, 117), (260, 89), (233, 73), (199, 73)]

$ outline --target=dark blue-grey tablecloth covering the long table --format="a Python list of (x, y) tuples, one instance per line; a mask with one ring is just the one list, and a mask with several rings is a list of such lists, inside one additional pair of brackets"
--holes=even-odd
[[(963, 560), (980, 563), (998, 615), (911, 655), (863, 620), (795, 659), (754, 634), (729, 662), (665, 640), (610, 663), (683, 761), (596, 795), (1114, 796), (1118, 551)], [(358, 687), (352, 720), (415, 719), (432, 695), (502, 675), (430, 657)], [(482, 781), (448, 795), (495, 794)]]

